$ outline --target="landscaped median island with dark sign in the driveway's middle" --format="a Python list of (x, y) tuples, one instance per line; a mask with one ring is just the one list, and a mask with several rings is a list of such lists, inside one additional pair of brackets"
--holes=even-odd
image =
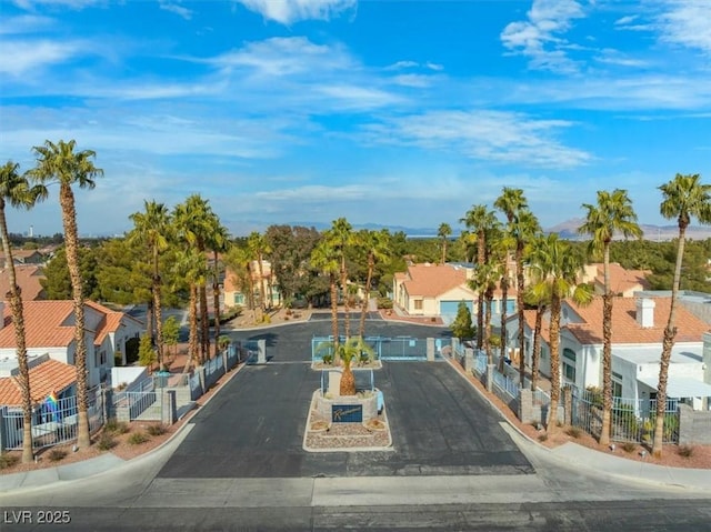
[[(379, 393), (372, 390), (352, 397), (330, 397), (321, 390), (314, 391), (303, 431), (303, 449), (309, 452), (392, 450), (384, 405), (378, 409)], [(360, 404), (361, 400), (374, 402), (375, 411), (370, 418), (368, 404)]]

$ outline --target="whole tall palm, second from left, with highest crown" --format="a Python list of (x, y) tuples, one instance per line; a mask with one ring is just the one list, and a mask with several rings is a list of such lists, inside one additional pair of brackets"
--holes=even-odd
[(77, 445), (86, 449), (91, 445), (89, 433), (89, 415), (87, 404), (87, 344), (84, 341), (84, 294), (83, 280), (79, 269), (79, 235), (77, 230), (77, 209), (72, 185), (81, 189), (93, 189), (94, 179), (103, 175), (103, 170), (93, 165), (96, 152), (83, 150), (74, 152), (77, 142), (49, 140), (43, 145), (32, 148), (37, 157), (37, 165), (29, 175), (40, 184), (59, 183), (59, 204), (62, 210), (64, 244), (67, 248), (67, 267), (71, 279), (71, 291), (74, 307), (74, 341), (77, 351)]

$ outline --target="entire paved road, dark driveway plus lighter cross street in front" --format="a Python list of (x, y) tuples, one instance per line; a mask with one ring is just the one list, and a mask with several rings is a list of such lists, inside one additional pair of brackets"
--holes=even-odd
[[(328, 329), (326, 320), (233, 332), (263, 335), (270, 363), (243, 368), (157, 453), (0, 495), (0, 532), (711, 531), (708, 493), (598, 475), (509, 436), (447, 362), (387, 362), (375, 372), (393, 451), (306, 453), (306, 414), (319, 382), (306, 360), (311, 334)], [(372, 322), (369, 333), (447, 331)], [(60, 522), (39, 524), (48, 510)]]

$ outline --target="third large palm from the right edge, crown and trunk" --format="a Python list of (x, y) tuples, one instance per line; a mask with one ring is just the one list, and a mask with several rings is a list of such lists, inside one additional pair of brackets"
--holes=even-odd
[[(578, 284), (577, 279), (583, 269), (583, 261), (571, 245), (551, 233), (533, 242), (531, 261), (535, 274), (533, 290), (549, 291), (551, 295), (550, 349), (551, 349), (551, 409), (548, 431), (553, 432), (558, 403), (560, 400), (560, 315), (562, 302), (571, 298), (578, 304), (592, 301), (592, 289), (588, 284)], [(523, 354), (523, 353), (521, 353)]]

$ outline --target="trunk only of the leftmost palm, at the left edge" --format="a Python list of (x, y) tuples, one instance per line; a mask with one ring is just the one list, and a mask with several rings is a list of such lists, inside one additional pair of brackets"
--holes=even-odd
[[(34, 460), (32, 449), (32, 394), (30, 393), (30, 368), (27, 360), (27, 343), (24, 335), (24, 315), (22, 313), (22, 295), (18, 287), (8, 223), (4, 217), (4, 200), (0, 199), (0, 232), (2, 233), (2, 251), (6, 257), (6, 269), (10, 275), (10, 310), (14, 325), (14, 341), (18, 355), (18, 369), (20, 375), (18, 382), (22, 393), (22, 463), (31, 463)], [(0, 314), (0, 319), (2, 315)]]

